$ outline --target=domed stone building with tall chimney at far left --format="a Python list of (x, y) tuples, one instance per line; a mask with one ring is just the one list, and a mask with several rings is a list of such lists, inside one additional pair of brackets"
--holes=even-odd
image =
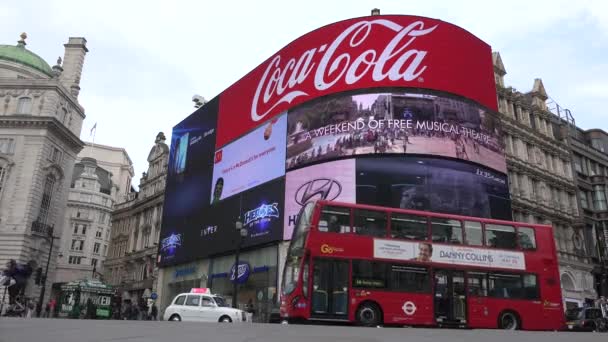
[[(69, 38), (52, 68), (17, 45), (0, 45), (0, 265), (9, 259), (47, 263), (61, 234), (68, 189), (80, 140), (84, 108), (78, 102), (86, 39)], [(56, 243), (56, 241), (55, 241)], [(47, 288), (55, 278), (50, 257)], [(34, 281), (26, 296), (37, 297)], [(47, 291), (48, 294), (50, 291)]]

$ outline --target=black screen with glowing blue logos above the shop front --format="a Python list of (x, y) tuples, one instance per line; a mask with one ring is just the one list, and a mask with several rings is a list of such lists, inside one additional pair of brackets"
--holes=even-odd
[[(177, 219), (161, 235), (158, 262), (169, 265), (283, 239), (285, 179), (278, 178)], [(165, 232), (165, 231), (163, 231)]]

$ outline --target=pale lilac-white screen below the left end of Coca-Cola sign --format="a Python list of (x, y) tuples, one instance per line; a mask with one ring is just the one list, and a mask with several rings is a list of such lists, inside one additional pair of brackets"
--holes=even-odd
[(211, 204), (285, 174), (287, 115), (217, 150)]

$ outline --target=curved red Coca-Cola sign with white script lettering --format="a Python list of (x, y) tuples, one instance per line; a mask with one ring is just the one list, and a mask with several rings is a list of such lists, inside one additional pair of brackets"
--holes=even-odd
[(312, 31), (220, 95), (217, 147), (314, 98), (364, 88), (445, 91), (497, 110), (489, 45), (414, 16), (349, 19)]

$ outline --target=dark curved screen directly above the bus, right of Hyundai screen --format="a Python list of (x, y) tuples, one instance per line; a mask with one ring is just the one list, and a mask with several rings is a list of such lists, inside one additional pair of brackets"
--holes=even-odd
[(357, 203), (511, 220), (506, 176), (428, 157), (358, 158)]

